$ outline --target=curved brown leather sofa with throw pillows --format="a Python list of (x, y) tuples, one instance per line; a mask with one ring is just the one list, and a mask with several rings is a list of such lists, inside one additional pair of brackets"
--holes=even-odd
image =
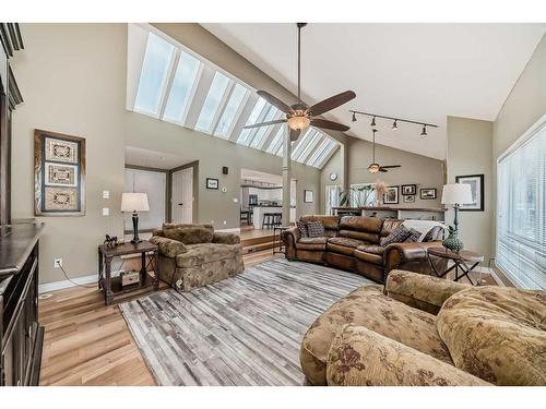
[(431, 231), (430, 241), (393, 243), (383, 248), (379, 244), (380, 239), (389, 236), (403, 220), (364, 216), (302, 216), (300, 220), (321, 221), (325, 236), (302, 238), (297, 227), (285, 230), (285, 255), (290, 261), (327, 264), (381, 284), (395, 268), (434, 275), (427, 248), (441, 245), (438, 241), (442, 234), (440, 227)]

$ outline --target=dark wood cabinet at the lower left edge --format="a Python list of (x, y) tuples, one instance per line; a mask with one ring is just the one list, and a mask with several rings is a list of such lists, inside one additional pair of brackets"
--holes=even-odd
[(44, 328), (38, 323), (41, 224), (0, 228), (0, 385), (39, 382)]

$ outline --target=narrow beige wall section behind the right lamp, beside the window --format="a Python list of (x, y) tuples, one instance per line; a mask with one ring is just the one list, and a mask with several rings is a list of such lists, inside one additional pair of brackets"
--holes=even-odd
[[(487, 263), (492, 243), (492, 122), (448, 117), (448, 183), (456, 176), (484, 175), (484, 212), (460, 212), (460, 239)], [(447, 215), (453, 222), (453, 210)]]

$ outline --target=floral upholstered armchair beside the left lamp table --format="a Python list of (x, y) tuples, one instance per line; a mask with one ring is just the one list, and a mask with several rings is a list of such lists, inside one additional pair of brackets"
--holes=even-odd
[(161, 279), (179, 291), (245, 270), (239, 236), (215, 232), (211, 225), (164, 224), (150, 241), (159, 248)]

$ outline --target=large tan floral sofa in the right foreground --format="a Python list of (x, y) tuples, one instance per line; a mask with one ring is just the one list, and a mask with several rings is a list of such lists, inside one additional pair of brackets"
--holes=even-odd
[(546, 291), (393, 270), (304, 336), (311, 385), (546, 385)]

